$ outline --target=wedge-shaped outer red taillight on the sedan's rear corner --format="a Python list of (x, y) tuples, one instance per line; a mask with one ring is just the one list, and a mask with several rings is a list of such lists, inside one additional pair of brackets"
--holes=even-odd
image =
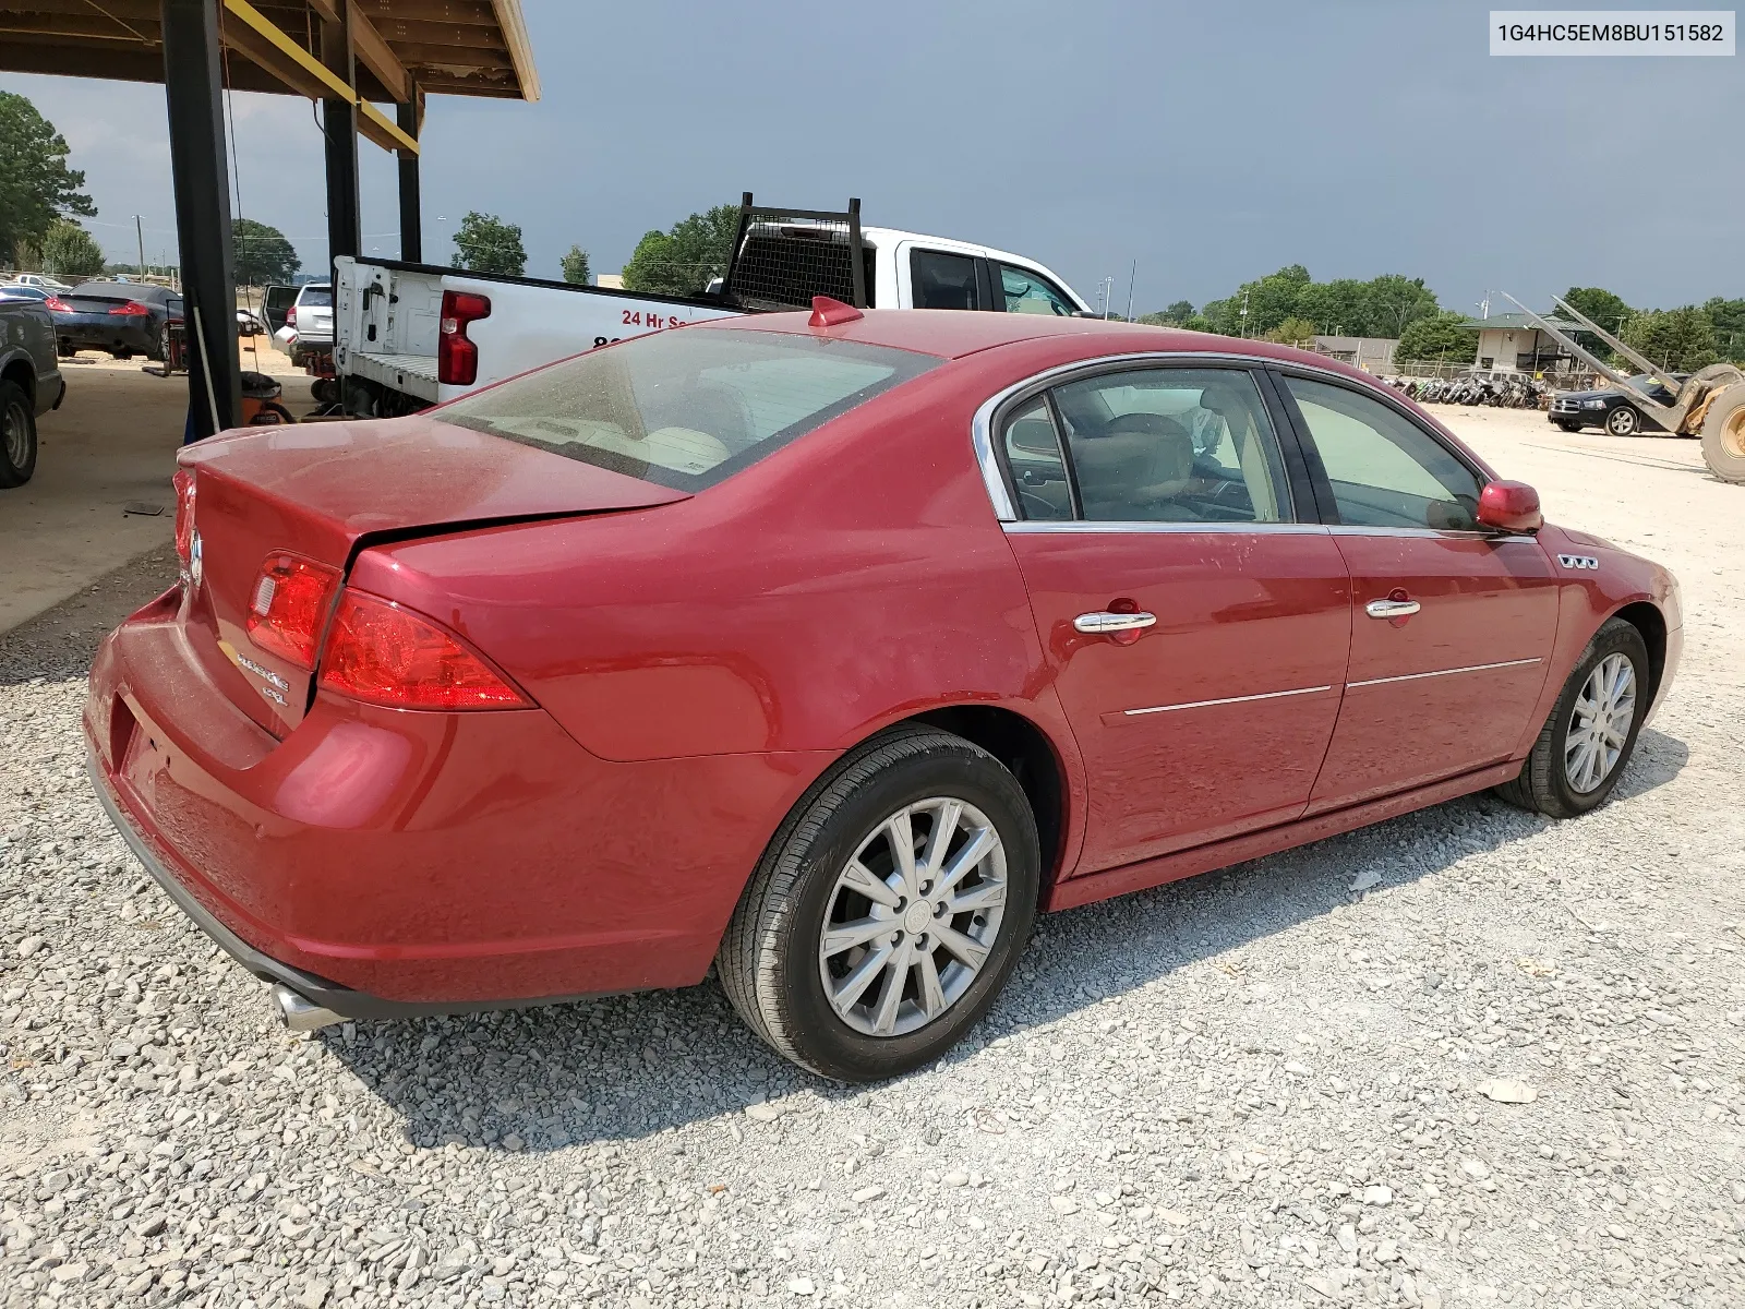
[(321, 686), (389, 709), (525, 709), (527, 700), (482, 658), (391, 600), (340, 595)]

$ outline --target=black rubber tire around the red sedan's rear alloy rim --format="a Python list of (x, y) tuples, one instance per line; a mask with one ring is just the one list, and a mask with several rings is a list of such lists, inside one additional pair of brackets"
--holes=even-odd
[[(831, 1007), (818, 967), (836, 878), (885, 817), (934, 796), (967, 799), (993, 824), (1005, 915), (981, 972), (941, 1016), (906, 1035), (862, 1035)], [(937, 1059), (988, 1011), (1030, 937), (1038, 888), (1037, 822), (1017, 778), (961, 737), (897, 728), (843, 757), (782, 822), (721, 939), (721, 986), (794, 1063), (843, 1082), (895, 1077)]]

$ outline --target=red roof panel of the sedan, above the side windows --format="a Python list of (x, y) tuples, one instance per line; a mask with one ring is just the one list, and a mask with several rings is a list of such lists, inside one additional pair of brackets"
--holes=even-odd
[[(993, 314), (967, 309), (866, 309), (862, 316), (831, 328), (811, 328), (804, 311), (787, 314), (747, 314), (696, 323), (703, 330), (818, 332), (838, 340), (866, 346), (939, 354), (961, 360), (1000, 346), (1028, 340), (1054, 340), (1063, 363), (1101, 354), (1208, 353), (1241, 354), (1281, 363), (1307, 363), (1323, 370), (1345, 372), (1370, 384), (1368, 374), (1340, 365), (1324, 354), (1274, 346), (1267, 340), (1239, 340), (1209, 332), (1181, 332), (1146, 323), (1105, 321), (1101, 318), (1050, 318), (1045, 314)], [(686, 328), (689, 330), (689, 328)]]

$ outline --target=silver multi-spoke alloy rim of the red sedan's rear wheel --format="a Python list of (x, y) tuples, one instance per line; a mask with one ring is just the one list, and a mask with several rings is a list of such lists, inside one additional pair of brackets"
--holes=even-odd
[(963, 998), (1005, 916), (1005, 846), (993, 822), (935, 796), (862, 838), (831, 888), (818, 939), (824, 993), (855, 1031), (900, 1037)]

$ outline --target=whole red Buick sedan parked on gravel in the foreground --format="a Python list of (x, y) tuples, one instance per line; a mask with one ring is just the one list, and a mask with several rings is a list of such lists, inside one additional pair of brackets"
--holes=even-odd
[(724, 319), (181, 456), (98, 792), (288, 1021), (688, 986), (935, 1058), (1038, 911), (1497, 787), (1602, 803), (1672, 576), (1258, 342)]

